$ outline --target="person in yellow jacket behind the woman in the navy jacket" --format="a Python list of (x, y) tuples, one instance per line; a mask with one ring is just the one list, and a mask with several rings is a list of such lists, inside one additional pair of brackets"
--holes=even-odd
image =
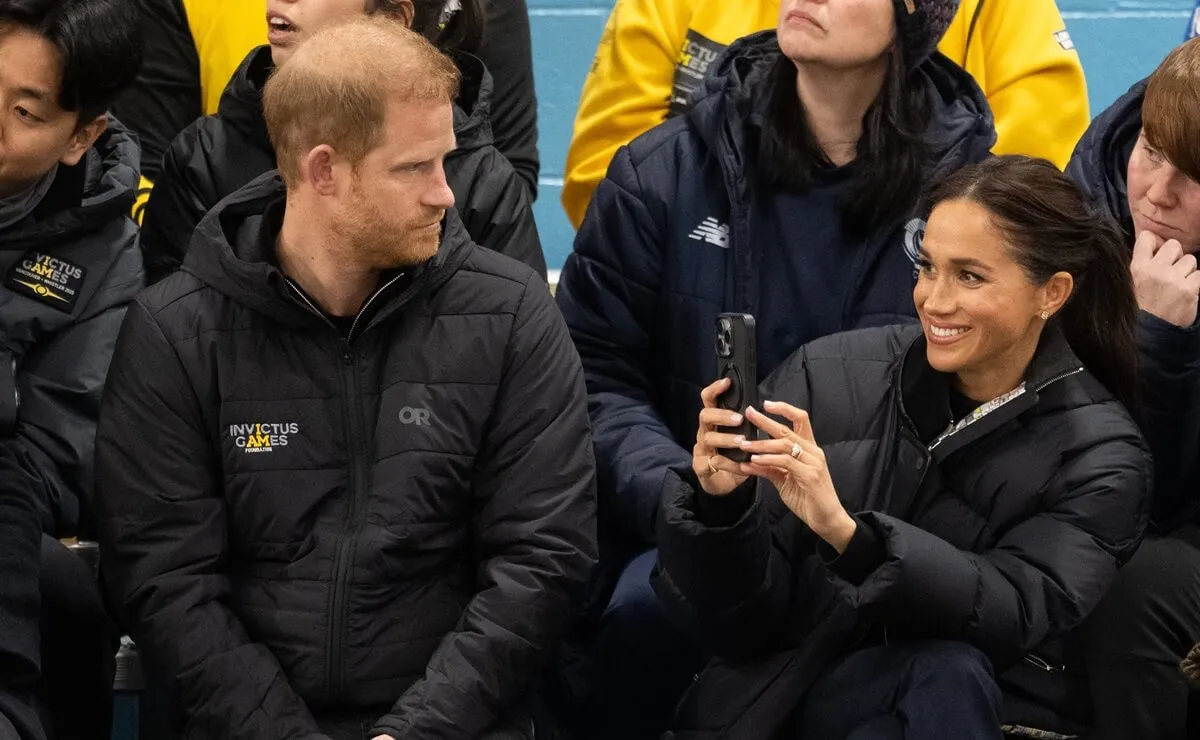
[[(563, 206), (575, 228), (617, 150), (686, 109), (734, 40), (775, 28), (779, 0), (617, 0), (583, 85)], [(962, 0), (938, 52), (974, 77), (996, 154), (1067, 164), (1091, 120), (1079, 54), (1055, 0)]]

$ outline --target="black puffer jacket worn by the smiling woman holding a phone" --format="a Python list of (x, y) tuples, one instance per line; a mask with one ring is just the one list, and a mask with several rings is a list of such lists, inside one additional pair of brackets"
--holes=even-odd
[(827, 662), (872, 633), (961, 639), (1003, 669), (1078, 625), (1140, 541), (1150, 457), (1058, 333), (1022, 393), (940, 441), (948, 377), (919, 326), (814, 342), (763, 397), (809, 410), (859, 529), (827, 559), (769, 485), (697, 501), (670, 474), (655, 586), (720, 656), (677, 739), (774, 736)]

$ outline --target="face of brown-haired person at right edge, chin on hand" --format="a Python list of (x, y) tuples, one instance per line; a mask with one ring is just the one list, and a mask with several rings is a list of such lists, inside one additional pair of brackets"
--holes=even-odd
[(1200, 252), (1200, 184), (1151, 146), (1145, 133), (1129, 155), (1126, 188), (1134, 236), (1151, 231), (1178, 240), (1188, 254)]

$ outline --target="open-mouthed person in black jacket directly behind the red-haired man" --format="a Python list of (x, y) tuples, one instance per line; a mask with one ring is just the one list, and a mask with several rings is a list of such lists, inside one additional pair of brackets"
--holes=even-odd
[[(275, 168), (275, 149), (263, 121), (263, 85), (276, 65), (322, 28), (364, 14), (379, 13), (422, 32), (438, 22), (438, 14), (418, 13), (427, 8), (414, 0), (389, 0), (371, 7), (374, 10), (365, 11), (361, 0), (269, 5), (274, 19), (270, 44), (250, 53), (226, 89), (217, 114), (188, 126), (163, 158), (142, 224), (148, 282), (152, 284), (180, 266), (196, 225), (217, 201)], [(478, 19), (470, 22), (478, 24)], [(530, 200), (512, 166), (492, 144), (491, 74), (479, 59), (466, 53), (455, 56), (463, 84), (455, 101), (457, 146), (446, 158), (446, 176), (458, 213), (473, 241), (545, 276), (546, 259)]]

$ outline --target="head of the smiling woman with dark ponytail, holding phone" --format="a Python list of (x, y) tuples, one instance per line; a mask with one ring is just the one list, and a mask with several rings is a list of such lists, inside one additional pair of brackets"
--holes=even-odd
[(1058, 323), (1092, 374), (1133, 405), (1127, 252), (1079, 187), (1044, 160), (998, 157), (953, 175), (934, 201), (913, 291), (930, 365), (990, 401), (1019, 385)]

